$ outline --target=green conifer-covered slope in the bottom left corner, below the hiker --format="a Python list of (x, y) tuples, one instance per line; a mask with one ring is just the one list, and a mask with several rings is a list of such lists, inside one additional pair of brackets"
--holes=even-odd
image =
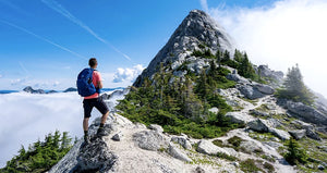
[(40, 173), (48, 171), (72, 148), (72, 138), (66, 132), (59, 131), (45, 137), (45, 141), (37, 140), (26, 150), (24, 146), (19, 155), (7, 162), (5, 168), (0, 169), (1, 173)]

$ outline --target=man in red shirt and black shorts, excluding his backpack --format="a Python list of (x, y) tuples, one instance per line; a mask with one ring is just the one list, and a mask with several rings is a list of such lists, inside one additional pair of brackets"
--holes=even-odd
[[(92, 72), (92, 83), (96, 88), (96, 92), (84, 97), (83, 100), (83, 108), (84, 108), (84, 120), (83, 120), (83, 129), (84, 129), (84, 141), (85, 144), (89, 144), (89, 136), (88, 136), (88, 120), (90, 118), (90, 112), (93, 108), (95, 107), (98, 111), (102, 113), (100, 127), (97, 131), (97, 136), (105, 136), (105, 123), (109, 114), (109, 109), (106, 106), (106, 103), (102, 101), (102, 99), (99, 97), (99, 89), (102, 88), (102, 82), (101, 82), (101, 75), (98, 71), (96, 71), (98, 66), (98, 62), (95, 58), (89, 59), (88, 65)], [(83, 71), (81, 72), (83, 73)], [(80, 78), (80, 75), (78, 75)], [(90, 83), (90, 82), (89, 82)], [(78, 85), (77, 85), (78, 86)]]

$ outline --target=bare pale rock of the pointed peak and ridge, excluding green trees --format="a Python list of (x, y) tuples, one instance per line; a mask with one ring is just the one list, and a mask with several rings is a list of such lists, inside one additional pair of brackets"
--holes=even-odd
[[(207, 45), (213, 51), (232, 50), (228, 36), (202, 11), (195, 10), (182, 22), (168, 44), (159, 51), (149, 66), (135, 82), (138, 86), (144, 77), (152, 77), (159, 63), (170, 66), (174, 76), (183, 78), (185, 65), (198, 73), (209, 65), (206, 59), (192, 55), (192, 50)], [(185, 63), (186, 62), (186, 63)], [(324, 171), (326, 164), (326, 118), (323, 109), (278, 100), (275, 89), (282, 82), (282, 73), (261, 65), (256, 69), (262, 76), (275, 78), (274, 84), (252, 82), (231, 71), (226, 77), (237, 83), (235, 87), (217, 89), (226, 102), (232, 107), (226, 116), (244, 127), (228, 132), (213, 139), (195, 139), (187, 135), (165, 133), (161, 126), (148, 127), (132, 123), (116, 110), (117, 100), (123, 99), (129, 89), (104, 94), (101, 98), (114, 110), (107, 120), (107, 136), (93, 139), (85, 147), (82, 139), (49, 172), (246, 172), (243, 166), (254, 160), (262, 172), (302, 172), (291, 166), (282, 157), (284, 141), (291, 136), (306, 146), (311, 160), (306, 168)], [(219, 112), (219, 108), (210, 108)], [(315, 119), (310, 119), (314, 116)], [(89, 127), (94, 136), (99, 119)], [(325, 133), (325, 135), (324, 135)], [(234, 141), (238, 143), (234, 143)], [(304, 172), (304, 171), (303, 171)]]

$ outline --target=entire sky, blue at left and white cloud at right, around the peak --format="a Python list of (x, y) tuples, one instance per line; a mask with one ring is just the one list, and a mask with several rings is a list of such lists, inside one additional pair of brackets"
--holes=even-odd
[[(105, 87), (131, 85), (189, 12), (201, 9), (252, 62), (283, 72), (299, 63), (308, 86), (324, 92), (326, 83), (315, 77), (327, 72), (312, 72), (323, 66), (307, 57), (322, 60), (326, 7), (324, 0), (0, 0), (0, 89), (65, 89), (90, 57)], [(300, 50), (307, 53), (292, 55)]]

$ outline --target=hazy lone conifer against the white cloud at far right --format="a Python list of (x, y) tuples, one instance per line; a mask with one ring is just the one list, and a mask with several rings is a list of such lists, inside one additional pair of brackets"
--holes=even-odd
[(303, 83), (303, 77), (299, 65), (288, 70), (287, 78), (283, 83), (283, 88), (277, 90), (277, 97), (290, 99), (296, 102), (303, 102), (307, 106), (314, 103), (315, 96)]

